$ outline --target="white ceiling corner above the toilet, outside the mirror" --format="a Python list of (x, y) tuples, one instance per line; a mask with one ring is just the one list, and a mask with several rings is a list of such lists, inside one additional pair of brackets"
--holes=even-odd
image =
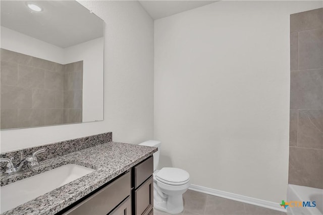
[(139, 1), (155, 20), (208, 5), (218, 1)]

